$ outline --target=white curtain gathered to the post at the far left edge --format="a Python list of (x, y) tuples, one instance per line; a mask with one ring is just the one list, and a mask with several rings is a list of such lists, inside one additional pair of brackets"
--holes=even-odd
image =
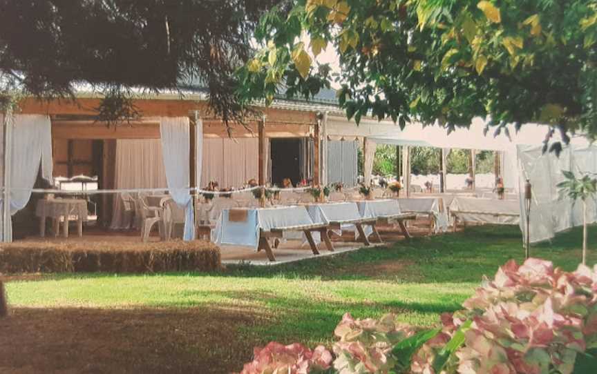
[[(41, 177), (52, 183), (52, 124), (46, 115), (15, 115), (7, 118), (11, 137), (8, 151), (10, 176), (7, 188), (10, 190), (10, 215), (24, 208), (31, 197), (41, 163)], [(4, 118), (0, 115), (0, 124)], [(21, 189), (21, 190), (18, 190)], [(4, 227), (4, 226), (3, 226)], [(12, 242), (12, 222), (7, 222), (3, 233), (6, 242)]]

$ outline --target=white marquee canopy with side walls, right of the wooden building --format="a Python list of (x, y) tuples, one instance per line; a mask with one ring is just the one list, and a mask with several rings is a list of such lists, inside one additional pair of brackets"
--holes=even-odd
[[(562, 170), (571, 170), (576, 175), (597, 174), (597, 147), (589, 144), (584, 137), (573, 137), (560, 157), (556, 157), (553, 153), (542, 153), (542, 142), (549, 130), (547, 126), (525, 124), (517, 132), (513, 125), (509, 125), (506, 126), (508, 135), (502, 130), (494, 137), (494, 130), (491, 128), (485, 135), (486, 124), (486, 120), (475, 118), (469, 128), (457, 128), (448, 134), (446, 128), (441, 126), (412, 123), (401, 130), (388, 121), (378, 123), (368, 120), (357, 126), (352, 121), (338, 117), (330, 118), (326, 132), (331, 139), (364, 139), (366, 180), (371, 175), (372, 158), (377, 144), (500, 151), (504, 184), (506, 188), (514, 188), (519, 194), (520, 227), (524, 235), (524, 183), (529, 179), (533, 186), (531, 242), (551, 239), (562, 230), (582, 224), (580, 203), (575, 206), (573, 201), (560, 199), (556, 185), (564, 178)], [(558, 140), (560, 137), (556, 133), (552, 141)], [(597, 221), (596, 201), (589, 204), (587, 220)]]

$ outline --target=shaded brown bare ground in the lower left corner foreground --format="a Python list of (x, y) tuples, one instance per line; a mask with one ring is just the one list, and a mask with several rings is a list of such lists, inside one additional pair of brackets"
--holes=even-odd
[(198, 308), (12, 309), (0, 319), (0, 373), (230, 373), (240, 367), (226, 363), (252, 356), (236, 329), (258, 319)]

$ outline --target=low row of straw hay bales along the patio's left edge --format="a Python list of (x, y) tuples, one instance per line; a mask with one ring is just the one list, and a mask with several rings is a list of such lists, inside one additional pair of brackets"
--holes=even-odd
[(220, 267), (220, 249), (202, 240), (15, 242), (0, 248), (0, 273), (155, 273)]

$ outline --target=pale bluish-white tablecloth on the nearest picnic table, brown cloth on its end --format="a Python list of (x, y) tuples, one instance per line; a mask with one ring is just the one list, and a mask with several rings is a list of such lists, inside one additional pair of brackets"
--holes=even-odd
[(222, 210), (216, 228), (211, 231), (211, 242), (234, 246), (248, 246), (257, 250), (259, 230), (313, 224), (304, 206), (282, 206), (276, 208), (239, 208), (247, 211), (243, 222), (231, 222), (230, 209)]

